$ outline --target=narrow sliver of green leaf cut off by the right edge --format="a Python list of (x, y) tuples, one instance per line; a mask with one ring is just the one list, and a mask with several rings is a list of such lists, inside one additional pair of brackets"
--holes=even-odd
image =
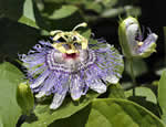
[(158, 85), (158, 103), (162, 108), (162, 119), (164, 123), (166, 123), (166, 71), (163, 72), (162, 77), (159, 80), (159, 85)]

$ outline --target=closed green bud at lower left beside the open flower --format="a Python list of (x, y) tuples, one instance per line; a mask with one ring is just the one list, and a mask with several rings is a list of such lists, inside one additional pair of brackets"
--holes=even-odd
[(17, 102), (23, 114), (29, 115), (34, 106), (34, 97), (27, 83), (20, 83), (17, 89)]

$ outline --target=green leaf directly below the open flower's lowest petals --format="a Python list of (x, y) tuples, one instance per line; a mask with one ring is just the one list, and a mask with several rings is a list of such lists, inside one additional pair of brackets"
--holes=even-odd
[(66, 97), (63, 105), (56, 110), (50, 110), (48, 104), (38, 105), (34, 109), (34, 115), (37, 116), (38, 120), (34, 120), (33, 123), (24, 123), (22, 127), (48, 127), (48, 125), (50, 125), (54, 120), (70, 117), (71, 115), (81, 110), (82, 108), (87, 106), (93, 98), (97, 96), (98, 94), (89, 92), (89, 94), (86, 94), (86, 97), (77, 104), (72, 102), (71, 97)]

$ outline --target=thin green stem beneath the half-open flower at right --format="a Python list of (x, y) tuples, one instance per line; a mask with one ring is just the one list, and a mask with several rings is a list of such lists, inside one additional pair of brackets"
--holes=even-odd
[(131, 67), (131, 77), (133, 81), (133, 96), (135, 96), (136, 80), (135, 80), (134, 70), (133, 70), (133, 59), (129, 59), (128, 62), (129, 62), (129, 67)]

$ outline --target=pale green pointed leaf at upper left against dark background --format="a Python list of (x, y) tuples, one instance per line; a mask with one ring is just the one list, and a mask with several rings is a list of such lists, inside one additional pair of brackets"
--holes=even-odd
[(32, 0), (25, 0), (23, 4), (23, 14), (19, 19), (19, 22), (37, 29), (39, 28), (35, 23), (35, 15)]

